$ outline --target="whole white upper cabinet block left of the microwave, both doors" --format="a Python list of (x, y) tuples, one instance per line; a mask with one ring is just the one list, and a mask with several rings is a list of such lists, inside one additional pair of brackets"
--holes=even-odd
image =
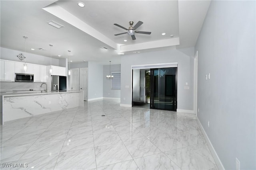
[(14, 82), (15, 63), (1, 60), (1, 81)]

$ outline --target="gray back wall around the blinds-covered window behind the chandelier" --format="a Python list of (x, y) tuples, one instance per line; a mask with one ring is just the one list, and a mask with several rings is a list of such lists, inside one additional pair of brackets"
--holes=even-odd
[[(120, 72), (121, 64), (111, 64), (111, 72)], [(106, 78), (109, 75), (109, 65), (103, 66), (103, 97), (120, 98), (120, 90), (111, 89), (111, 80)]]

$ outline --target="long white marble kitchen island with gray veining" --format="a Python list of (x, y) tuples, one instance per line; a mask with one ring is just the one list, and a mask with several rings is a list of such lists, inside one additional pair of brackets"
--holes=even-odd
[(1, 125), (6, 121), (84, 106), (83, 91), (0, 93)]

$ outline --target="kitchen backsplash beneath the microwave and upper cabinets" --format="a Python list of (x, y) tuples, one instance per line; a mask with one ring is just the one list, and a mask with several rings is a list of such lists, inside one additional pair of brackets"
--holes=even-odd
[[(42, 82), (0, 82), (0, 92), (12, 90), (41, 90)], [(45, 85), (43, 86), (45, 89)]]

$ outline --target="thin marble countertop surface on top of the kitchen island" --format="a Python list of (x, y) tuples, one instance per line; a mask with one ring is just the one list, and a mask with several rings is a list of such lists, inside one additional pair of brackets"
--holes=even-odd
[(41, 91), (27, 91), (27, 92), (13, 92), (13, 91), (6, 91), (0, 92), (0, 96), (26, 96), (26, 95), (44, 95), (44, 94), (54, 94), (54, 93), (74, 93), (74, 92), (82, 92), (82, 91), (71, 91), (71, 90), (64, 90), (64, 91), (48, 91), (41, 92)]

